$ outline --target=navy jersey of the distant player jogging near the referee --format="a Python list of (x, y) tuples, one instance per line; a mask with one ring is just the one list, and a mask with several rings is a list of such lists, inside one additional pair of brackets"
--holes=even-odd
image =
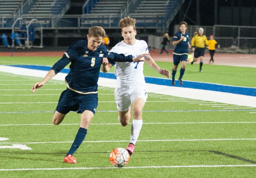
[(173, 41), (179, 40), (181, 36), (185, 36), (185, 37), (183, 41), (179, 42), (176, 45), (173, 54), (176, 54), (176, 55), (188, 54), (188, 41), (190, 37), (188, 32), (186, 32), (185, 34), (182, 34), (182, 32), (180, 31), (178, 33), (175, 33), (173, 36)]

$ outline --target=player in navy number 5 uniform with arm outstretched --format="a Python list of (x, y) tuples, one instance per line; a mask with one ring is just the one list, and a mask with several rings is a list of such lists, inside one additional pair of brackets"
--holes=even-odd
[(55, 125), (60, 124), (70, 111), (81, 113), (81, 122), (74, 142), (63, 162), (77, 163), (77, 159), (73, 157), (73, 154), (83, 142), (89, 123), (98, 106), (97, 82), (101, 64), (108, 63), (108, 60), (113, 62), (139, 62), (144, 61), (143, 57), (149, 55), (142, 54), (137, 58), (132, 58), (132, 55), (125, 56), (123, 54), (110, 53), (101, 44), (104, 36), (105, 30), (102, 27), (95, 26), (90, 28), (87, 40), (74, 42), (66, 50), (62, 58), (54, 64), (45, 78), (41, 82), (36, 82), (32, 88), (32, 92), (35, 92), (36, 89), (42, 87), (71, 62), (69, 66), (70, 72), (65, 78), (67, 89), (60, 95), (52, 123)]

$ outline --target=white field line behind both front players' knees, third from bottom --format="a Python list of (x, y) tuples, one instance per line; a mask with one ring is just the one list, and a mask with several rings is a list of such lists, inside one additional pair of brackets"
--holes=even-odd
[[(252, 112), (253, 113), (253, 112)], [(256, 112), (254, 112), (256, 113)], [(143, 124), (248, 124), (256, 122), (155, 122), (155, 123), (143, 123)], [(120, 123), (90, 123), (90, 125), (119, 125)], [(131, 123), (129, 123), (131, 124)], [(54, 124), (0, 124), (0, 126), (26, 126), (26, 125), (50, 125)], [(60, 125), (79, 125), (79, 123), (73, 124), (60, 124)]]

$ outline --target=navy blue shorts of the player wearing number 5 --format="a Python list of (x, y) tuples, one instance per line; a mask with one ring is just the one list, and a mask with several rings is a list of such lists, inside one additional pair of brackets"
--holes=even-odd
[(70, 111), (83, 113), (85, 110), (92, 111), (98, 106), (98, 93), (96, 94), (80, 94), (72, 90), (65, 90), (61, 93), (56, 111), (67, 114)]

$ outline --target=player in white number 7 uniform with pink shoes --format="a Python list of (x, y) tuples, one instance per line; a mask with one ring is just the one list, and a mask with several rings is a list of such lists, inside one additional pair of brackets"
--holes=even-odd
[[(123, 41), (116, 44), (110, 52), (118, 54), (139, 56), (148, 53), (148, 46), (144, 40), (136, 40), (135, 19), (125, 17), (119, 22), (122, 31)], [(159, 74), (170, 77), (167, 69), (161, 69), (155, 61), (148, 56), (145, 62), (155, 69)], [(131, 126), (130, 143), (126, 150), (130, 155), (133, 154), (135, 143), (142, 127), (142, 109), (147, 99), (146, 82), (143, 74), (144, 62), (111, 62), (101, 66), (103, 72), (108, 72), (115, 66), (117, 86), (115, 88), (115, 102), (118, 108), (119, 121), (122, 126), (126, 126), (131, 118), (131, 104), (133, 108), (133, 120)]]

